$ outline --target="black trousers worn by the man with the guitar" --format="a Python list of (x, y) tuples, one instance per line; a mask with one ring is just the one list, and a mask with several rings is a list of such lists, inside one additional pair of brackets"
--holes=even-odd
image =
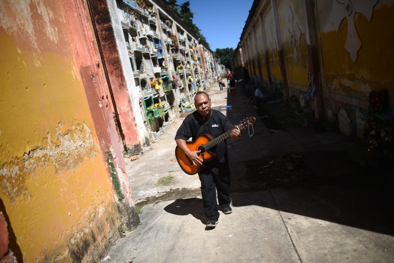
[(217, 163), (215, 166), (206, 166), (199, 172), (201, 181), (201, 195), (203, 196), (204, 212), (208, 219), (217, 220), (217, 200), (219, 205), (229, 207), (230, 198), (230, 168), (226, 162)]

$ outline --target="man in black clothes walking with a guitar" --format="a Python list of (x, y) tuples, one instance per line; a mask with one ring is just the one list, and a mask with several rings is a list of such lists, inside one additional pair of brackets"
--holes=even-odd
[[(175, 136), (175, 142), (178, 147), (186, 154), (190, 162), (194, 165), (203, 164), (203, 160), (199, 157), (200, 151), (190, 151), (186, 141), (189, 138), (195, 140), (200, 134), (208, 133), (213, 138), (217, 138), (224, 132), (231, 130), (234, 126), (230, 120), (218, 110), (211, 109), (211, 99), (208, 93), (199, 91), (194, 97), (194, 105), (196, 111), (188, 115)], [(241, 137), (238, 129), (233, 129), (229, 139), (236, 141)], [(217, 200), (219, 205), (223, 207), (224, 214), (230, 214), (230, 168), (227, 151), (226, 140), (221, 141), (215, 147), (210, 149), (216, 154), (213, 160), (204, 162), (204, 166), (198, 173), (201, 181), (201, 195), (203, 196), (204, 212), (208, 218), (206, 227), (215, 227), (219, 219), (219, 211), (217, 210)]]

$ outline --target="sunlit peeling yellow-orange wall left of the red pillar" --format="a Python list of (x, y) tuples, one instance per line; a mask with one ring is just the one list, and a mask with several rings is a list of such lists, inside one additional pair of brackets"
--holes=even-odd
[(116, 232), (107, 164), (61, 8), (22, 4), (1, 11), (0, 198), (25, 262), (88, 260)]

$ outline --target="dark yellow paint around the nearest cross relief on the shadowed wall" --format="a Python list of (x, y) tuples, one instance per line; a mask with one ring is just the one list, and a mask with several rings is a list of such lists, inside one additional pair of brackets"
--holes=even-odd
[[(394, 93), (394, 6), (377, 4), (371, 22), (356, 14), (355, 26), (362, 41), (355, 63), (345, 49), (348, 20), (335, 30), (320, 32), (324, 75), (330, 92), (367, 99), (368, 92), (387, 88)], [(325, 94), (325, 97), (328, 95)]]

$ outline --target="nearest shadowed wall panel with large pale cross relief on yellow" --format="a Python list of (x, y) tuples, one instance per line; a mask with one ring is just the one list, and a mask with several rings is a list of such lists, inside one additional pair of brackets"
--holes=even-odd
[[(392, 24), (394, 1), (317, 0), (325, 84), (337, 97), (356, 106), (368, 105), (371, 90), (394, 93)], [(384, 54), (384, 56), (382, 56)], [(324, 94), (326, 97), (328, 93)]]

